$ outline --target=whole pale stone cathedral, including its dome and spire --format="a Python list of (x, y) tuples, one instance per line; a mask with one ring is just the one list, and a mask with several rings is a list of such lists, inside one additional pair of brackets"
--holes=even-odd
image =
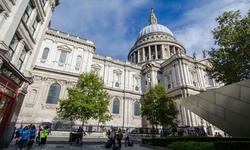
[[(150, 127), (140, 116), (140, 102), (150, 85), (163, 84), (173, 99), (220, 86), (205, 71), (211, 65), (207, 52), (201, 59), (195, 53), (188, 56), (174, 34), (158, 24), (153, 9), (149, 25), (131, 47), (128, 61), (118, 60), (96, 54), (94, 41), (48, 28), (32, 66), (34, 83), (27, 89), (18, 123), (54, 122), (58, 99), (67, 99), (67, 87), (73, 87), (83, 72), (101, 76), (111, 96), (108, 107), (113, 119), (102, 124), (106, 127)], [(185, 107), (176, 107), (179, 126), (212, 126)], [(97, 124), (97, 120), (87, 123)]]

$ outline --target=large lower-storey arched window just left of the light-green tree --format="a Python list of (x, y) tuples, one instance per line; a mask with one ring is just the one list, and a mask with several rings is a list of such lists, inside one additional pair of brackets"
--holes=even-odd
[(47, 97), (46, 103), (57, 104), (60, 91), (61, 91), (60, 84), (58, 84), (58, 83), (51, 84), (51, 86), (49, 88), (49, 95)]

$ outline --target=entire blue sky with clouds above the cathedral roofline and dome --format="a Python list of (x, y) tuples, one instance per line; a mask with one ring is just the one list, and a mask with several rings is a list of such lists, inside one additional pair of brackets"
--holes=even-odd
[(154, 8), (158, 24), (168, 27), (187, 55), (211, 50), (215, 18), (240, 10), (245, 16), (250, 0), (60, 0), (51, 28), (94, 41), (95, 53), (127, 60), (139, 32), (149, 24)]

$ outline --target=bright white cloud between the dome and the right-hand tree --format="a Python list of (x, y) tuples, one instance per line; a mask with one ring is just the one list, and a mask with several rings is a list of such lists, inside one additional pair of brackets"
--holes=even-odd
[(213, 0), (211, 3), (185, 12), (180, 21), (182, 26), (175, 29), (176, 38), (184, 45), (188, 55), (197, 53), (202, 57), (203, 50), (211, 50), (214, 39), (211, 31), (217, 27), (215, 18), (225, 11), (241, 10), (244, 16), (249, 10), (250, 1)]

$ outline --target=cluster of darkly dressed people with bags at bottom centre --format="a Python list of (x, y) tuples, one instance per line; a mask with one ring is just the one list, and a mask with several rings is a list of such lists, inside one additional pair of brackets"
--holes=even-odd
[(122, 147), (121, 140), (123, 138), (125, 139), (125, 147), (127, 147), (129, 144), (129, 131), (128, 131), (128, 129), (126, 129), (124, 136), (123, 136), (121, 129), (119, 129), (118, 132), (116, 132), (115, 128), (112, 128), (112, 131), (110, 131), (110, 130), (107, 131), (107, 136), (109, 138), (109, 142), (112, 143), (113, 147), (116, 146), (116, 141), (117, 141), (118, 147), (121, 149), (121, 147)]

